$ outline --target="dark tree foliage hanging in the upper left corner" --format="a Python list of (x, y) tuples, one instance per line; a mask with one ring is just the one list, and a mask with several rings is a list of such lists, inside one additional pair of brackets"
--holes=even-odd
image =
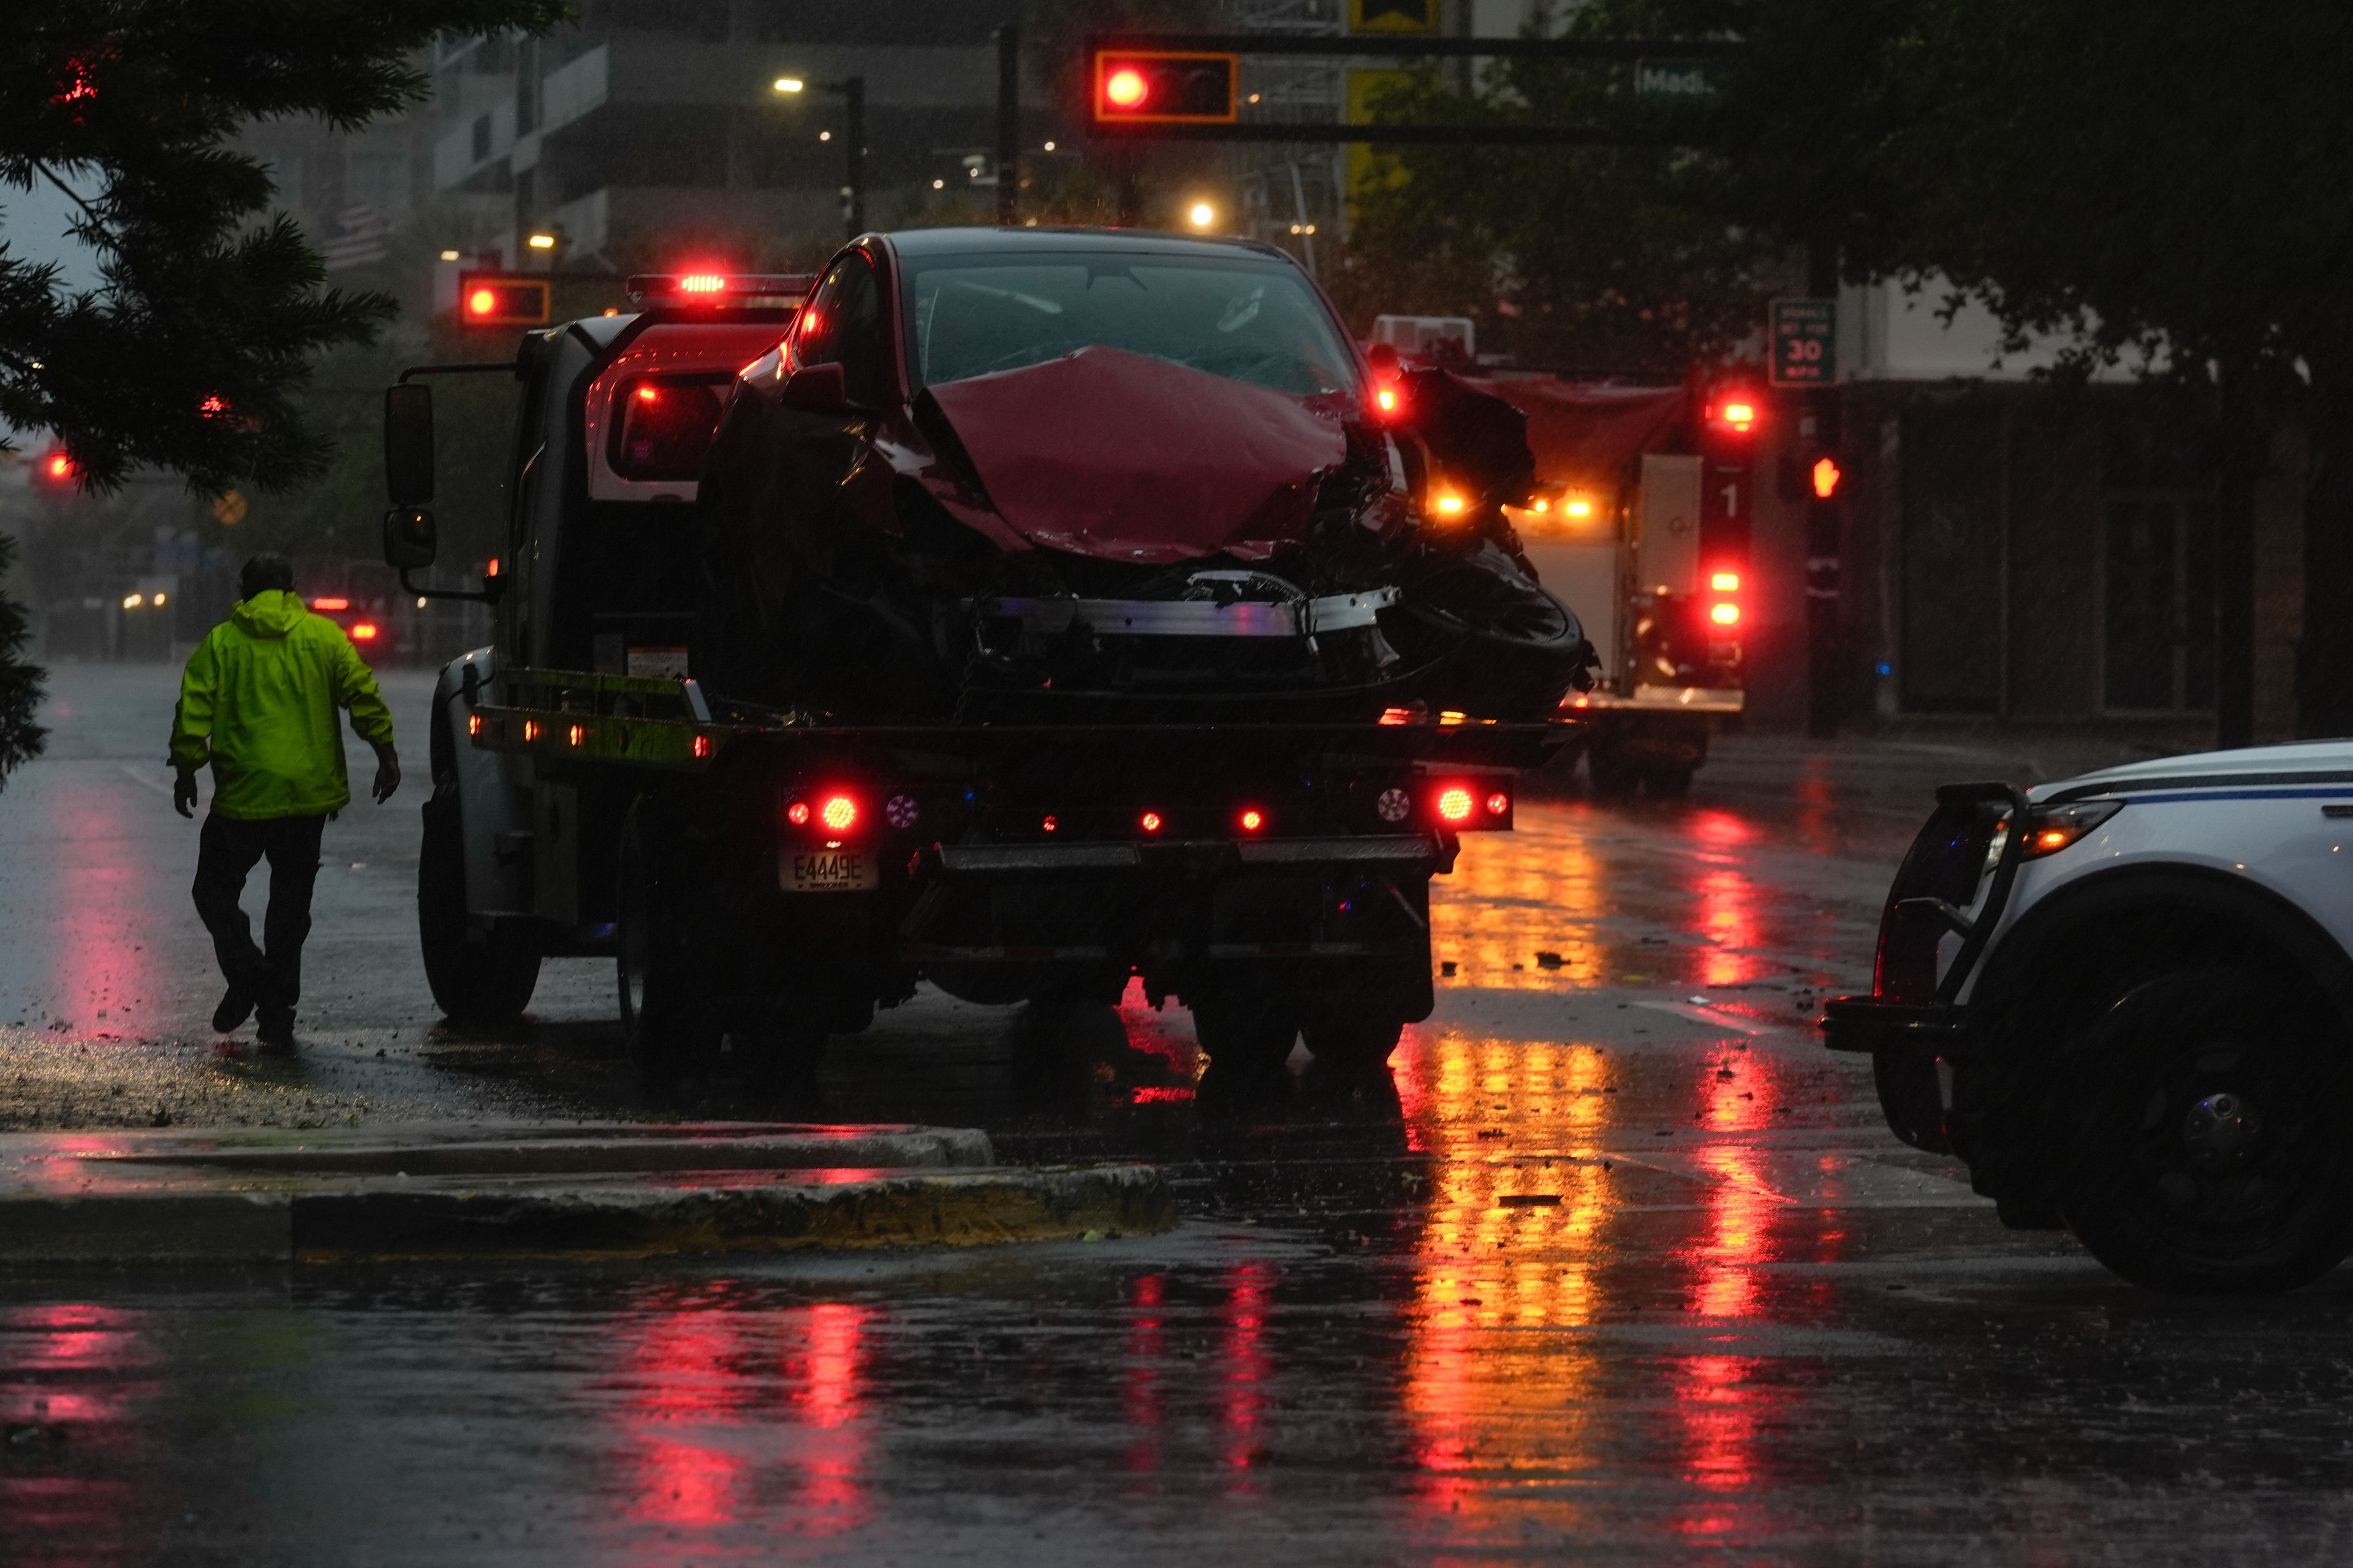
[[(369, 344), (384, 294), (322, 287), (320, 254), (268, 217), (271, 177), (231, 137), (318, 115), (355, 129), (419, 101), (414, 54), (442, 33), (544, 31), (565, 0), (16, 0), (0, 35), (0, 188), (45, 181), (80, 207), (96, 290), (0, 245), (5, 431), (64, 438), (92, 490), (134, 469), (198, 494), (325, 471), (304, 386)], [(0, 775), (40, 749), (40, 671), (0, 598)]]

